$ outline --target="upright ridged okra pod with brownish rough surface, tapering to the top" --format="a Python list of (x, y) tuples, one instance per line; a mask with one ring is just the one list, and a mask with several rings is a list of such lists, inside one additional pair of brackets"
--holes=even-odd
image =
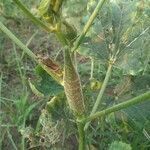
[(82, 116), (85, 111), (81, 81), (72, 62), (69, 49), (64, 50), (64, 89), (65, 94), (74, 114)]

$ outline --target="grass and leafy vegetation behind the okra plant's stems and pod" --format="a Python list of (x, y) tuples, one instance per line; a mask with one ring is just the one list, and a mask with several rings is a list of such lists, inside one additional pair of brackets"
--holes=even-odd
[[(37, 8), (40, 1), (22, 2), (39, 17)], [(81, 32), (97, 2), (66, 1), (64, 17)], [(150, 89), (150, 2), (116, 2), (104, 5), (102, 13), (97, 16), (78, 48), (77, 64), (86, 114), (95, 103), (105, 78), (107, 61), (114, 53), (107, 51), (107, 46), (113, 47), (113, 42), (118, 42), (118, 39), (121, 51), (99, 109)], [(35, 26), (12, 0), (0, 1), (0, 20), (36, 55), (49, 55), (59, 64), (63, 63), (61, 44), (54, 34)], [(62, 103), (65, 101), (62, 87), (1, 31), (0, 70), (0, 149), (44, 150), (61, 147), (76, 150), (77, 128), (68, 105)], [(61, 102), (53, 103), (57, 98)], [(148, 150), (149, 108), (148, 101), (94, 120), (86, 134), (88, 148)], [(52, 115), (49, 116), (46, 110)]]

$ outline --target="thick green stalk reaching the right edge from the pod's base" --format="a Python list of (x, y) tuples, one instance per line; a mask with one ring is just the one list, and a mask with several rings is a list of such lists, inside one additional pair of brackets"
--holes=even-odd
[(91, 115), (91, 116), (89, 116), (89, 117), (87, 117), (85, 119), (82, 119), (81, 122), (85, 122), (85, 121), (87, 122), (87, 121), (91, 121), (93, 119), (96, 119), (98, 117), (106, 116), (106, 115), (108, 115), (108, 114), (110, 114), (112, 112), (119, 111), (121, 109), (127, 108), (129, 106), (133, 106), (135, 104), (144, 102), (146, 100), (150, 100), (150, 91), (148, 91), (148, 92), (146, 92), (144, 94), (141, 94), (141, 95), (139, 95), (137, 97), (134, 97), (134, 98), (132, 98), (130, 100), (127, 100), (125, 102), (122, 102), (120, 104), (117, 104), (115, 106), (112, 106), (110, 108), (107, 108), (105, 110), (102, 110), (100, 112), (97, 112), (97, 113), (95, 113), (95, 114), (93, 114), (93, 115)]

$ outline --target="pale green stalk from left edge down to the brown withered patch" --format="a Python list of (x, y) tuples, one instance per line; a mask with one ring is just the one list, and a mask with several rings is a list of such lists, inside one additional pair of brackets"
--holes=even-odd
[(16, 43), (21, 49), (23, 49), (31, 58), (33, 58), (36, 62), (36, 55), (26, 47), (12, 32), (5, 27), (5, 25), (0, 22), (0, 29), (14, 42)]

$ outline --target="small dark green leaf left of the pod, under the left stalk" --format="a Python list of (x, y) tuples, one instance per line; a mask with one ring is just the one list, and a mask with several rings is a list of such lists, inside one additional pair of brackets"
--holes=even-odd
[(40, 66), (36, 67), (36, 73), (40, 76), (40, 80), (34, 81), (33, 85), (44, 96), (54, 96), (63, 91), (63, 87)]

